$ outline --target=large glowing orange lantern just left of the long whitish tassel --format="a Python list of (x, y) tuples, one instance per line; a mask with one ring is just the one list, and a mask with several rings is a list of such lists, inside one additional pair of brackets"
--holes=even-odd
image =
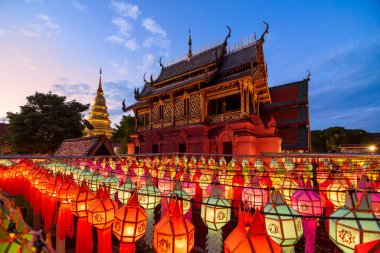
[(120, 252), (135, 252), (135, 242), (145, 234), (146, 221), (147, 214), (134, 190), (127, 204), (115, 213), (112, 231), (120, 241)]

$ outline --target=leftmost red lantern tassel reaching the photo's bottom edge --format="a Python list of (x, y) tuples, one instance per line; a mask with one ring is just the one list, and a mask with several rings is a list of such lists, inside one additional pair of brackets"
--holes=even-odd
[(79, 217), (75, 253), (92, 253), (92, 245), (92, 226), (87, 222), (87, 217)]

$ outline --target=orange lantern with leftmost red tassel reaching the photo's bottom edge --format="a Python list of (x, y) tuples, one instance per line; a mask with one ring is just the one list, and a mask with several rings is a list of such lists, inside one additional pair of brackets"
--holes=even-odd
[(83, 182), (71, 200), (71, 212), (78, 217), (76, 229), (76, 252), (92, 252), (92, 227), (87, 222), (87, 210), (95, 194), (90, 191), (86, 182)]

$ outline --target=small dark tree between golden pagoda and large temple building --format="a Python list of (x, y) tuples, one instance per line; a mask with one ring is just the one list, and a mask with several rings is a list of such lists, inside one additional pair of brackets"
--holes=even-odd
[(112, 141), (121, 144), (121, 154), (127, 153), (127, 144), (130, 142), (129, 134), (135, 131), (135, 118), (131, 115), (124, 115), (119, 125), (115, 124), (112, 134)]

